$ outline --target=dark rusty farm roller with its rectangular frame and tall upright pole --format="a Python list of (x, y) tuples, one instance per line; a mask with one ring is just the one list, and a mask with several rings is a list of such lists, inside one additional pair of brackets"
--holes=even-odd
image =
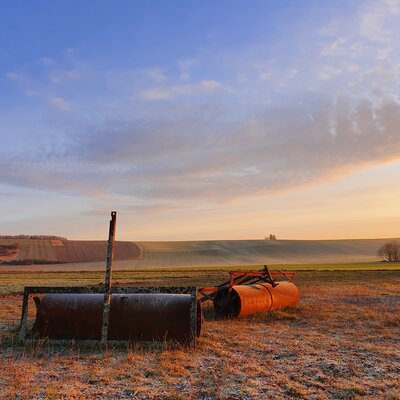
[(116, 214), (111, 213), (104, 284), (25, 287), (19, 331), (22, 342), (26, 340), (29, 297), (36, 295), (32, 336), (103, 345), (111, 341), (171, 341), (195, 346), (202, 323), (196, 287), (111, 286)]

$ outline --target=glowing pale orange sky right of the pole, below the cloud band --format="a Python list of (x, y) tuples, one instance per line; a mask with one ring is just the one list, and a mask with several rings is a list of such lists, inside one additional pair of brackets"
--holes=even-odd
[(399, 237), (400, 161), (216, 208), (120, 213), (124, 240), (346, 239)]

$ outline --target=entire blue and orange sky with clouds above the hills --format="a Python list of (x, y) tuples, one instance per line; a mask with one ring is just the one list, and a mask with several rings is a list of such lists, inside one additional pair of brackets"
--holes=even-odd
[(0, 4), (0, 234), (399, 237), (400, 1)]

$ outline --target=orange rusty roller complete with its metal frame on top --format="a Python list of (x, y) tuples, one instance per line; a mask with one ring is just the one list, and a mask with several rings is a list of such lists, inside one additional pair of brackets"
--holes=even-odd
[(300, 296), (293, 276), (294, 272), (271, 272), (267, 266), (261, 271), (231, 271), (228, 281), (199, 293), (201, 301), (214, 303), (217, 315), (240, 318), (297, 305)]

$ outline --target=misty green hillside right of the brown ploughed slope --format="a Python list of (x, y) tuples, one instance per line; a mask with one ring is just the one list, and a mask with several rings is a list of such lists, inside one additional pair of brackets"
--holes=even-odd
[(143, 258), (132, 265), (170, 267), (374, 262), (377, 261), (377, 249), (387, 241), (388, 239), (139, 242)]

